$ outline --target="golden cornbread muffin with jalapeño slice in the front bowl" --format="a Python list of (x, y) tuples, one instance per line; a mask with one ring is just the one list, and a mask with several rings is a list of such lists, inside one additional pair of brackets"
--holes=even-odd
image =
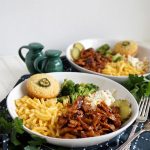
[(27, 80), (26, 88), (30, 97), (37, 98), (54, 98), (60, 91), (58, 81), (47, 74), (32, 75)]

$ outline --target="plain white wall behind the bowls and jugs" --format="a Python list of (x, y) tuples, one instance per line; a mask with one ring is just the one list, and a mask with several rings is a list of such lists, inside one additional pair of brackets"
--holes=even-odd
[(95, 37), (150, 41), (150, 0), (0, 0), (0, 56)]

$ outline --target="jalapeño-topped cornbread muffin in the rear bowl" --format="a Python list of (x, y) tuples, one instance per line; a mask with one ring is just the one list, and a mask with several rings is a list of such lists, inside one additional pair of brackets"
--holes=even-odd
[(131, 55), (135, 56), (137, 54), (138, 46), (134, 41), (121, 41), (116, 43), (113, 51), (115, 53), (120, 53), (121, 55)]

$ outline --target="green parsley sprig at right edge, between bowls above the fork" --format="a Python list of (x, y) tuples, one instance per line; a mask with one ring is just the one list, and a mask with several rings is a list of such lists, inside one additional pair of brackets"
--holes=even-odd
[(142, 96), (150, 96), (150, 76), (129, 75), (123, 85), (139, 102)]

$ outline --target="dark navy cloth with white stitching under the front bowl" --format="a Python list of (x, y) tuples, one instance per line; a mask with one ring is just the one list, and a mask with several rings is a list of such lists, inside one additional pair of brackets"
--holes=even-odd
[[(77, 72), (75, 68), (73, 68), (69, 62), (67, 61), (66, 57), (63, 56), (62, 58), (63, 65), (64, 65), (64, 71), (66, 72)], [(27, 79), (30, 75), (24, 75), (22, 76), (18, 82), (16, 83), (19, 84), (20, 82), (24, 81)], [(15, 85), (15, 86), (16, 86)], [(0, 113), (7, 109), (6, 107), (6, 98), (1, 101), (0, 103)], [(10, 116), (8, 116), (10, 117)], [(143, 123), (140, 123), (138, 125), (137, 131), (143, 128)], [(42, 150), (115, 150), (117, 149), (121, 144), (123, 144), (128, 136), (129, 133), (132, 129), (132, 126), (130, 126), (128, 129), (126, 129), (124, 132), (122, 132), (120, 135), (116, 136), (115, 138), (111, 139), (110, 141), (107, 141), (102, 144), (94, 145), (94, 146), (89, 146), (89, 147), (80, 147), (80, 148), (61, 148), (58, 146), (54, 146), (51, 144), (47, 144), (48, 148), (42, 147)], [(25, 139), (26, 140), (26, 139)], [(8, 150), (8, 145), (9, 145), (10, 137), (7, 134), (1, 134), (0, 132), (0, 147), (2, 147), (2, 150)], [(150, 132), (144, 132), (141, 134), (138, 138), (136, 138), (132, 144), (131, 144), (131, 150), (150, 150)]]

